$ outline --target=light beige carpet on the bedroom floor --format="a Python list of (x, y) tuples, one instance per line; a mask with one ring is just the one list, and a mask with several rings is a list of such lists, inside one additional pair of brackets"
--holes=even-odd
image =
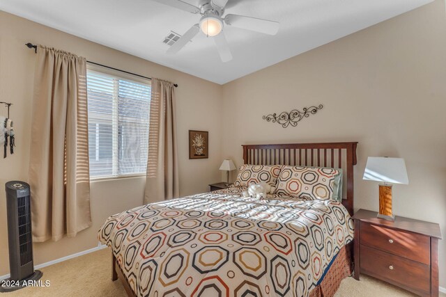
[[(1, 296), (127, 296), (121, 282), (112, 282), (112, 255), (108, 248), (91, 252), (65, 262), (42, 268), (42, 280), (49, 280), (49, 287), (27, 287)], [(361, 275), (342, 281), (336, 297), (403, 297), (415, 296), (385, 282)], [(446, 297), (446, 294), (440, 294)]]

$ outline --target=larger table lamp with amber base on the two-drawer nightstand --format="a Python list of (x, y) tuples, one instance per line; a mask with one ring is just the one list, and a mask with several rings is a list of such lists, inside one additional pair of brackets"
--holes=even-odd
[(392, 213), (392, 184), (409, 184), (406, 163), (401, 158), (369, 156), (362, 179), (383, 182), (379, 184), (378, 218), (394, 220)]

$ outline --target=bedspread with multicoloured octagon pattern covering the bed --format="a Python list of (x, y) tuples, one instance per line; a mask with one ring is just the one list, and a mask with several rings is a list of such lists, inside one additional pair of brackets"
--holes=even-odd
[(348, 211), (241, 190), (130, 209), (109, 217), (99, 239), (137, 296), (308, 296), (353, 240)]

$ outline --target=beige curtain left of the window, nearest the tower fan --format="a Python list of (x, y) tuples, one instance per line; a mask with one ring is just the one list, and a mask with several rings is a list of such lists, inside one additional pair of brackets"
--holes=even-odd
[(57, 241), (91, 226), (86, 60), (38, 47), (31, 156), (33, 240)]

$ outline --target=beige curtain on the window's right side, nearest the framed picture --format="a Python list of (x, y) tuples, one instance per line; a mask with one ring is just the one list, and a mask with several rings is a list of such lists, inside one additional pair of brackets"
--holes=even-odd
[(150, 117), (144, 203), (180, 195), (175, 91), (170, 81), (152, 79)]

